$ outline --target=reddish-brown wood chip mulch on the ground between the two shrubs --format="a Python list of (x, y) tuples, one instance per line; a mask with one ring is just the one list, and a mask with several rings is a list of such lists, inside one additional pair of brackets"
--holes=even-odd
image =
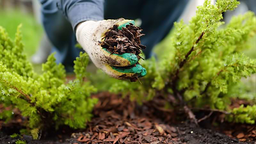
[(181, 143), (176, 127), (148, 118), (152, 114), (147, 111), (144, 116), (136, 113), (134, 110), (140, 108), (134, 102), (117, 97), (98, 95), (100, 102), (93, 112), (93, 122), (88, 124), (86, 132), (73, 134), (73, 138), (80, 143)]

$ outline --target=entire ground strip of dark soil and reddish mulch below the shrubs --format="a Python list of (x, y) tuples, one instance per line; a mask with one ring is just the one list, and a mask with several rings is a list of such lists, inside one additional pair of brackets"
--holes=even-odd
[[(164, 111), (156, 107), (160, 98), (138, 106), (128, 98), (120, 95), (99, 93), (93, 97), (99, 98), (99, 104), (93, 111), (94, 117), (84, 130), (74, 131), (67, 127), (59, 131), (49, 131), (42, 134), (41, 140), (33, 141), (31, 136), (10, 138), (10, 134), (18, 132), (16, 123), (4, 125), (0, 121), (0, 143), (15, 143), (26, 140), (27, 143), (254, 143), (256, 140), (255, 125), (219, 123), (213, 127), (220, 117), (215, 113), (211, 118), (200, 123), (200, 127), (190, 122), (177, 119), (179, 112)], [(154, 106), (153, 106), (154, 104)], [(207, 113), (200, 112), (201, 115)], [(180, 113), (181, 115), (181, 113)], [(198, 113), (196, 113), (198, 116)], [(218, 116), (218, 117), (217, 117)], [(16, 129), (15, 129), (16, 127)], [(205, 127), (205, 128), (203, 128)], [(207, 127), (207, 129), (206, 129)], [(237, 139), (239, 138), (239, 139)], [(245, 139), (245, 140), (244, 140)], [(247, 142), (242, 142), (247, 141)]]

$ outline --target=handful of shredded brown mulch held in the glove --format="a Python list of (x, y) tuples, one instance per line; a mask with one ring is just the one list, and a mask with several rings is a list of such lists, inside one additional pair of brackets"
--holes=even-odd
[(118, 25), (114, 25), (105, 33), (104, 41), (100, 44), (101, 47), (107, 49), (111, 54), (124, 54), (132, 53), (141, 57), (139, 54), (143, 49), (146, 49), (145, 45), (141, 45), (140, 36), (142, 29), (138, 26), (134, 26), (132, 23), (118, 29)]

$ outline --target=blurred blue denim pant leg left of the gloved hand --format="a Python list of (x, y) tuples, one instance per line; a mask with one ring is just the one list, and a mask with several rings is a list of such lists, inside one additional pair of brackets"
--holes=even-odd
[(77, 42), (72, 26), (58, 10), (56, 0), (42, 1), (42, 23), (45, 33), (54, 45), (52, 52), (56, 52), (56, 62), (63, 63), (66, 68), (72, 67), (80, 51), (75, 47)]

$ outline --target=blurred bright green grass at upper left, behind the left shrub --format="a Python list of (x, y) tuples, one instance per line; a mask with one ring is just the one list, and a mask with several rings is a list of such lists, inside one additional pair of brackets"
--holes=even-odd
[(22, 42), (24, 51), (30, 58), (39, 45), (42, 36), (42, 28), (36, 22), (33, 15), (20, 12), (20, 10), (0, 10), (0, 26), (6, 29), (9, 36), (14, 40), (17, 26), (22, 24)]

